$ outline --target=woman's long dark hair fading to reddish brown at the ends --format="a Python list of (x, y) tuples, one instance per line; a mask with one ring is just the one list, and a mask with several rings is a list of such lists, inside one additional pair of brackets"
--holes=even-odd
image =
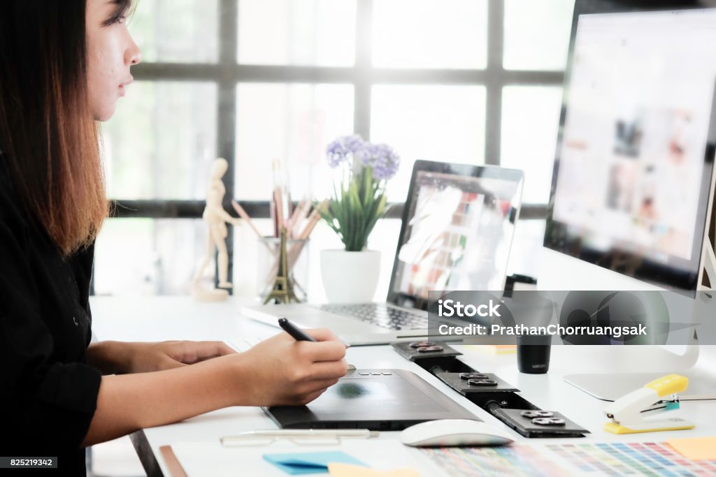
[[(0, 1), (0, 149), (31, 222), (64, 255), (108, 215), (87, 94), (87, 0)], [(117, 16), (130, 0), (116, 0)]]

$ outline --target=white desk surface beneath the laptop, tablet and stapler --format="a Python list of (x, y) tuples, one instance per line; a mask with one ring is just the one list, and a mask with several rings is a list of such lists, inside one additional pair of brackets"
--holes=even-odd
[[(241, 337), (269, 336), (278, 328), (255, 323), (238, 315), (239, 302), (233, 298), (223, 303), (195, 303), (189, 297), (91, 297), (92, 328), (100, 340), (161, 341), (161, 340), (237, 340)], [(553, 346), (549, 373), (525, 375), (518, 373), (515, 355), (489, 355), (473, 347), (455, 345), (465, 353), (461, 358), (476, 370), (495, 373), (521, 390), (521, 395), (540, 408), (558, 410), (571, 420), (589, 429), (586, 438), (571, 441), (664, 441), (674, 437), (716, 435), (716, 400), (682, 402), (679, 411), (685, 418), (697, 423), (690, 431), (671, 433), (643, 433), (615, 436), (602, 430), (606, 421), (602, 408), (604, 401), (587, 395), (562, 380), (567, 363), (574, 363), (579, 347)], [(702, 346), (707, 365), (716, 369), (716, 346)], [(507, 428), (492, 415), (455, 393), (440, 380), (415, 363), (397, 355), (388, 345), (353, 347), (347, 351), (347, 360), (357, 368), (403, 368), (420, 375), (435, 388), (463, 405), (483, 421), (503, 428), (516, 441), (531, 441)], [(701, 360), (703, 363), (704, 360)], [(613, 370), (605, 370), (609, 372)], [(216, 442), (221, 436), (242, 431), (271, 429), (271, 423), (260, 408), (226, 408), (169, 426), (147, 428), (134, 433), (132, 442), (149, 476), (168, 476), (166, 464), (160, 454), (161, 446), (180, 442)], [(397, 438), (397, 432), (383, 432), (380, 438)], [(539, 439), (540, 443), (570, 439)], [(262, 452), (257, 448), (256, 452)], [(246, 475), (253, 475), (249, 469)], [(262, 475), (269, 475), (262, 473)], [(274, 474), (271, 474), (274, 475)], [(276, 476), (285, 476), (276, 469)]]

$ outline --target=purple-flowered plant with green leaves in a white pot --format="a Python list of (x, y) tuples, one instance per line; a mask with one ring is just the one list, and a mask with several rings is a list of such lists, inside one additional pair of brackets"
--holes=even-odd
[(385, 195), (400, 157), (387, 144), (371, 144), (359, 135), (339, 137), (326, 148), (340, 180), (321, 217), (343, 242), (341, 250), (321, 250), (321, 277), (332, 303), (373, 300), (380, 272), (380, 252), (367, 250), (368, 237), (389, 209)]

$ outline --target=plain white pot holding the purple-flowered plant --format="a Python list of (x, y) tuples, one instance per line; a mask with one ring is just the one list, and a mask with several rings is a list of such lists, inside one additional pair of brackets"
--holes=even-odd
[(379, 272), (377, 250), (321, 250), (321, 277), (329, 303), (372, 302)]

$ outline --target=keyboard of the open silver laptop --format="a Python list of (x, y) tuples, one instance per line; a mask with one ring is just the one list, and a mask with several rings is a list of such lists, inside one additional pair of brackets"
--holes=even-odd
[(426, 330), (427, 312), (391, 308), (382, 303), (361, 303), (359, 305), (316, 305), (319, 310), (336, 315), (350, 316), (365, 323), (390, 330)]

